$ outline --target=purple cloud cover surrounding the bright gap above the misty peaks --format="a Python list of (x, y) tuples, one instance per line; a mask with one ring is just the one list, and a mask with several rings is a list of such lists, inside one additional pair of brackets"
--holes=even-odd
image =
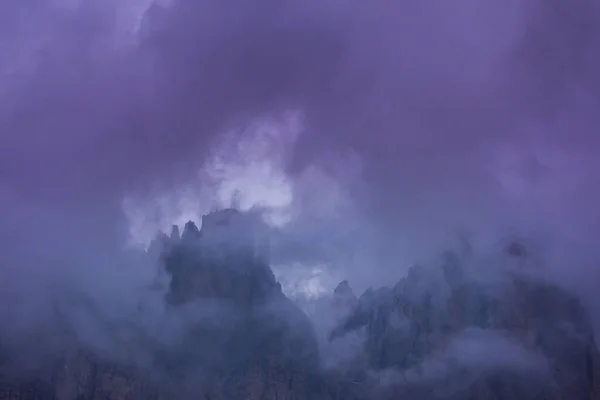
[(224, 154), (224, 132), (292, 110), (302, 132), (261, 160), (304, 203), (345, 196), (299, 226), (364, 223), (344, 243), (379, 276), (399, 240), (425, 251), (463, 227), (568, 236), (585, 268), (563, 272), (599, 275), (596, 2), (171, 0), (134, 32), (136, 1), (0, 2), (4, 265), (102, 254), (125, 197), (202, 186), (215, 148), (248, 154)]

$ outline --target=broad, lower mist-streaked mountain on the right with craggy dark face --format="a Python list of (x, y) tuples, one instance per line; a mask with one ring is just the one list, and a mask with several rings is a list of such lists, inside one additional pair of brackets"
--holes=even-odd
[[(525, 257), (516, 244), (506, 252)], [(381, 399), (600, 398), (600, 355), (581, 303), (518, 268), (448, 253), (365, 292), (330, 339), (359, 328)]]

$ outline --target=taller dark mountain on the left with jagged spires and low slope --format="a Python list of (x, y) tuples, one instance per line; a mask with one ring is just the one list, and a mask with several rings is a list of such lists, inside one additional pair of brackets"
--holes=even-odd
[(328, 400), (312, 324), (283, 294), (256, 224), (221, 210), (203, 217), (202, 229), (190, 221), (181, 235), (157, 237), (149, 253), (166, 272), (164, 303), (183, 333), (167, 342), (141, 335), (152, 348), (143, 368), (73, 337), (35, 373), (0, 363), (0, 399)]

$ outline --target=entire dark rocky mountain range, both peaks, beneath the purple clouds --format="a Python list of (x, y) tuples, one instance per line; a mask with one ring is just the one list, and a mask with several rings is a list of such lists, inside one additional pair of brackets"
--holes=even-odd
[[(358, 298), (341, 282), (331, 294), (330, 343), (320, 343), (275, 279), (255, 222), (224, 210), (151, 246), (166, 277), (162, 321), (177, 334), (140, 333), (143, 357), (128, 362), (70, 333), (28, 371), (11, 369), (19, 353), (0, 342), (0, 399), (600, 399), (589, 317), (557, 285), (447, 253)], [(523, 266), (527, 252), (515, 244), (504, 255)], [(358, 331), (355, 357), (325, 365), (324, 347)]]

